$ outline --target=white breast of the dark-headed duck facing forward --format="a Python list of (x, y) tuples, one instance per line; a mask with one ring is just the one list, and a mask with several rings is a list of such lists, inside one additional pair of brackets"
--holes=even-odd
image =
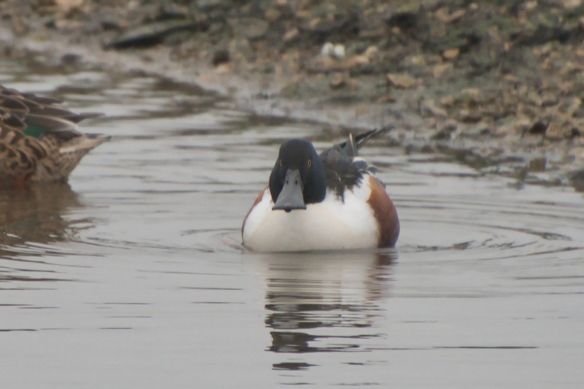
[(340, 202), (333, 192), (306, 210), (272, 211), (269, 189), (252, 209), (243, 230), (244, 246), (255, 251), (340, 250), (377, 247), (378, 227), (367, 204), (369, 180), (345, 192)]

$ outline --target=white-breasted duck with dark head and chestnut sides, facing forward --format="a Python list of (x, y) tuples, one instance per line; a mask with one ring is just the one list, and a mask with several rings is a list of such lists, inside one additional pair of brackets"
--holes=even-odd
[(255, 251), (308, 251), (393, 247), (399, 235), (395, 206), (374, 167), (357, 149), (393, 126), (374, 129), (318, 155), (312, 143), (291, 139), (267, 187), (241, 227)]

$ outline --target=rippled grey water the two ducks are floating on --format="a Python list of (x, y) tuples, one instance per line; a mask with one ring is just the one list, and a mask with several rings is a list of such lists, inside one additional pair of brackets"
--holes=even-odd
[(2, 388), (582, 388), (584, 198), (380, 140), (395, 250), (255, 254), (279, 143), (345, 132), (165, 80), (2, 61), (101, 111), (69, 185), (0, 192)]

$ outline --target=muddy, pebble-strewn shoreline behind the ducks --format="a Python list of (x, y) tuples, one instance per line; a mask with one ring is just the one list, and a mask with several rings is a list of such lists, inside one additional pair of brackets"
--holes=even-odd
[[(144, 72), (522, 183), (584, 173), (582, 1), (8, 1), (0, 50)], [(226, 5), (227, 4), (227, 5)]]

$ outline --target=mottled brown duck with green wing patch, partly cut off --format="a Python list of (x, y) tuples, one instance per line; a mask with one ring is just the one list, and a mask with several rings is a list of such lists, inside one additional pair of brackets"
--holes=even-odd
[(0, 86), (0, 187), (66, 181), (89, 150), (109, 139), (82, 134), (76, 114), (49, 97)]

